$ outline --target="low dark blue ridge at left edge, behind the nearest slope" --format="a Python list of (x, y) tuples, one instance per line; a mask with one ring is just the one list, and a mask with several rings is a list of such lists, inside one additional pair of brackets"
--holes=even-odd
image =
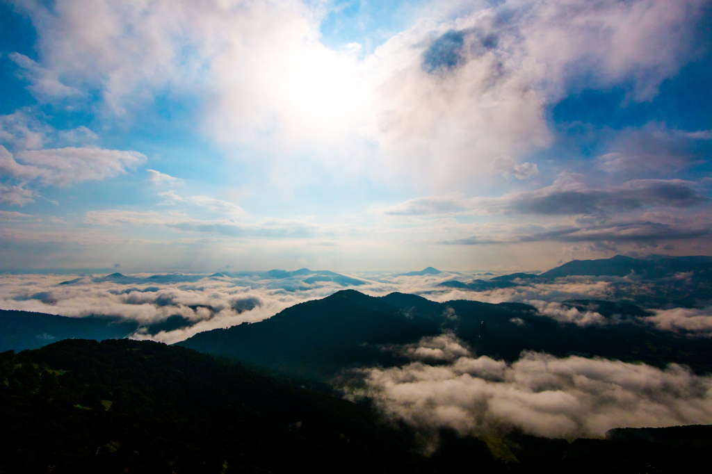
[(0, 310), (0, 352), (36, 349), (61, 339), (128, 337), (136, 322), (119, 317), (65, 317), (41, 312)]

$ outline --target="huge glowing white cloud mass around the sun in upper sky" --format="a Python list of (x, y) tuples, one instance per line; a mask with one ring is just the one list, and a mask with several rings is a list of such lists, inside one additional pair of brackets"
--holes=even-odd
[(502, 156), (511, 176), (536, 176), (524, 157), (550, 143), (545, 106), (571, 87), (626, 82), (633, 100), (654, 97), (693, 55), (703, 4), (447, 2), (362, 59), (320, 43), (322, 6), (296, 0), (21, 8), (43, 58), (26, 69), (58, 90), (98, 88), (117, 114), (156, 91), (200, 90), (203, 130), (218, 142), (316, 149), (349, 172), (406, 172), (451, 189)]

